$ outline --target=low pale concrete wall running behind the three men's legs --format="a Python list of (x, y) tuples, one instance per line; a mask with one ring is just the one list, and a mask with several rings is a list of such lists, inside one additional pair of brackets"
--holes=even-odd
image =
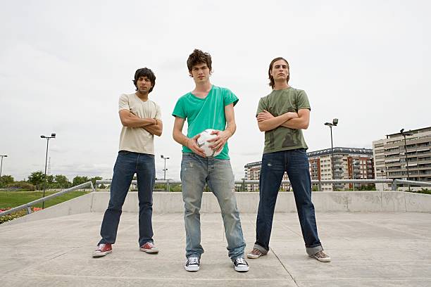
[[(154, 214), (180, 213), (184, 210), (181, 193), (155, 192)], [(237, 204), (242, 213), (256, 213), (259, 193), (237, 192)], [(45, 210), (7, 222), (18, 224), (85, 212), (104, 212), (108, 206), (109, 192), (97, 191), (68, 200)], [(317, 212), (428, 212), (431, 213), (431, 195), (401, 191), (316, 191), (313, 203)], [(137, 192), (127, 194), (123, 212), (138, 212)], [(202, 213), (218, 213), (213, 193), (206, 192), (202, 198)], [(296, 212), (292, 192), (280, 192), (275, 212)]]

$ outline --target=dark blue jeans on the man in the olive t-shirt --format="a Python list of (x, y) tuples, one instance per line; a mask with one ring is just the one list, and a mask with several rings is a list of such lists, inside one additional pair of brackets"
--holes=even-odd
[(292, 184), (306, 251), (310, 255), (316, 254), (323, 248), (318, 238), (314, 205), (311, 202), (311, 178), (304, 148), (263, 154), (254, 248), (261, 250), (262, 253), (268, 253), (275, 201), (285, 172)]

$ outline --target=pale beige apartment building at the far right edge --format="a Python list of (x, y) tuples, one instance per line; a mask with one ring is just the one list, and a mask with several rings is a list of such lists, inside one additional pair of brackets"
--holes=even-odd
[[(408, 131), (412, 134), (388, 134), (386, 139), (373, 141), (377, 179), (410, 179), (431, 181), (431, 127)], [(407, 151), (407, 152), (406, 152)], [(380, 184), (390, 189), (390, 184)]]

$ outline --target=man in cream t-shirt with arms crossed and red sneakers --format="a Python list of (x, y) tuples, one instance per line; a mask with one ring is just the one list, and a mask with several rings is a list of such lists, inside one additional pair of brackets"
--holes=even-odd
[(115, 243), (117, 236), (121, 208), (135, 173), (139, 198), (139, 249), (146, 253), (158, 253), (153, 241), (151, 224), (156, 177), (154, 134), (161, 136), (163, 124), (160, 107), (148, 98), (156, 84), (156, 76), (148, 68), (138, 69), (133, 84), (136, 92), (122, 94), (118, 103), (123, 129), (113, 170), (111, 199), (101, 224), (101, 240), (93, 252), (93, 257), (101, 257), (112, 252), (111, 245)]

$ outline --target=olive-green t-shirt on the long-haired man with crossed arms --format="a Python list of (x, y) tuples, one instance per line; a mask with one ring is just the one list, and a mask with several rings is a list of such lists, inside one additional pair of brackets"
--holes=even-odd
[[(277, 117), (287, 112), (298, 113), (301, 108), (311, 110), (310, 103), (305, 91), (289, 87), (282, 90), (273, 90), (268, 96), (259, 101), (256, 112), (268, 110)], [(275, 151), (287, 151), (296, 148), (308, 148), (302, 134), (302, 129), (289, 129), (288, 127), (277, 127), (265, 132), (265, 148), (263, 153), (274, 153)]]

